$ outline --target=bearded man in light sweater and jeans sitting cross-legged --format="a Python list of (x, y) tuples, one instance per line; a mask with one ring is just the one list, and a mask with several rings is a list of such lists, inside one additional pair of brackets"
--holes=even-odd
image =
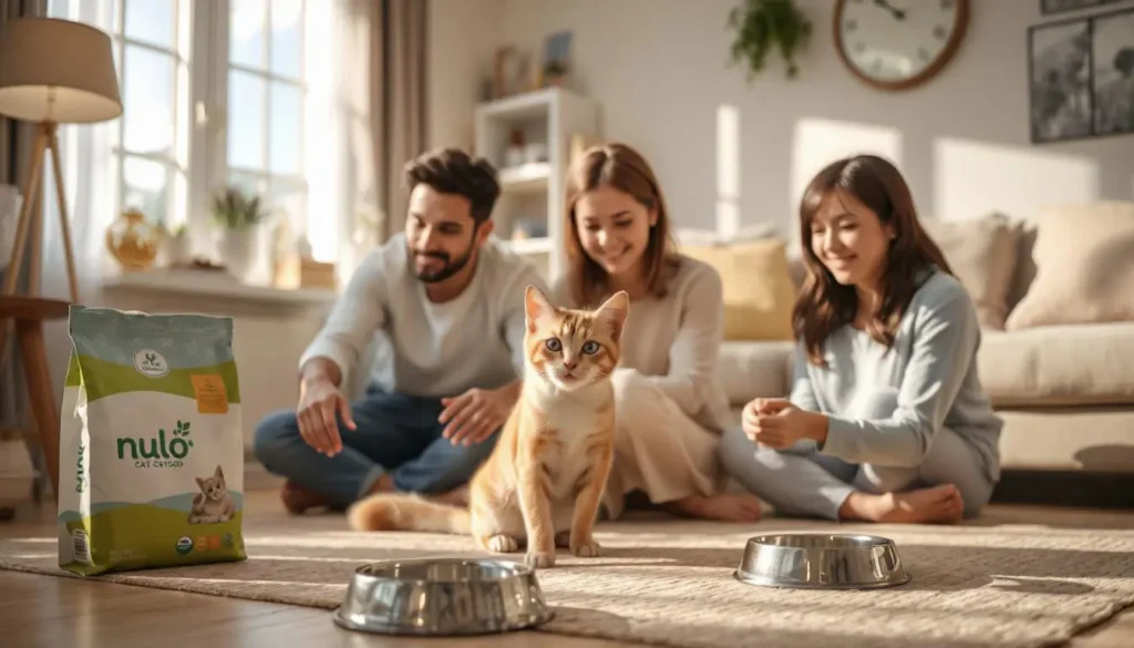
[[(256, 427), (293, 514), (375, 491), (459, 502), (519, 397), (535, 267), (498, 246), (496, 170), (457, 149), (405, 167), (405, 232), (373, 250), (299, 360), (299, 404)], [(376, 342), (365, 396), (342, 392)]]

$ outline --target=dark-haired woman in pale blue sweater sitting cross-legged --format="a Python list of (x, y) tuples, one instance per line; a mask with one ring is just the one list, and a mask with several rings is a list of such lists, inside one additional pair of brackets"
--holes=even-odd
[(728, 472), (778, 511), (956, 522), (999, 479), (1002, 422), (981, 387), (973, 301), (917, 220), (902, 174), (838, 160), (799, 207), (806, 279), (788, 398), (748, 403)]

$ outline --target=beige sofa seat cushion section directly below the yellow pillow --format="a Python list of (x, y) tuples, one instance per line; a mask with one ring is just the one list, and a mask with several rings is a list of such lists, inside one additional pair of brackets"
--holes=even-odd
[(790, 392), (794, 346), (789, 340), (725, 342), (717, 362), (717, 377), (729, 404), (786, 396)]

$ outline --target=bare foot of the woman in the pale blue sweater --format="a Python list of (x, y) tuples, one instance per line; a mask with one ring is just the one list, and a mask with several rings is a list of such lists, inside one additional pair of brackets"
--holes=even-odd
[(942, 483), (908, 493), (853, 493), (839, 508), (839, 516), (868, 522), (953, 524), (964, 510), (957, 487)]

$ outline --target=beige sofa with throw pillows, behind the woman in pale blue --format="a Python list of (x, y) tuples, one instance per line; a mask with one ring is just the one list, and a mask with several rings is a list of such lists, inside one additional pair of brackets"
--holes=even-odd
[[(1100, 495), (1115, 478), (1134, 478), (1134, 202), (925, 227), (978, 304), (980, 375), (1005, 421), (1001, 490), (1031, 489), (1012, 481), (1022, 476), (1074, 474), (1102, 478)], [(730, 339), (718, 371), (737, 421), (751, 398), (789, 390), (784, 284), (797, 287), (802, 266), (784, 250), (770, 239), (693, 251), (725, 281)], [(787, 278), (768, 278), (778, 268)], [(765, 321), (746, 336), (741, 322), (754, 317)], [(1126, 493), (1119, 498), (1134, 505)]]

